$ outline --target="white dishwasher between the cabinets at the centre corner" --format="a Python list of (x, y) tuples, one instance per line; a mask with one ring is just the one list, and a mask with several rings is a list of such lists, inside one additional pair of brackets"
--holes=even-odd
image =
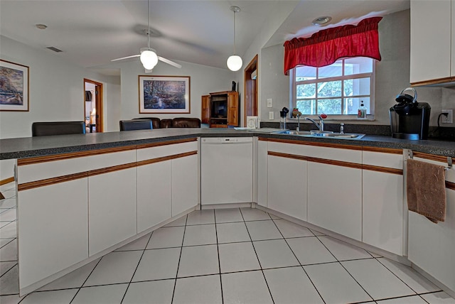
[(200, 146), (200, 204), (252, 202), (251, 137), (208, 137)]

